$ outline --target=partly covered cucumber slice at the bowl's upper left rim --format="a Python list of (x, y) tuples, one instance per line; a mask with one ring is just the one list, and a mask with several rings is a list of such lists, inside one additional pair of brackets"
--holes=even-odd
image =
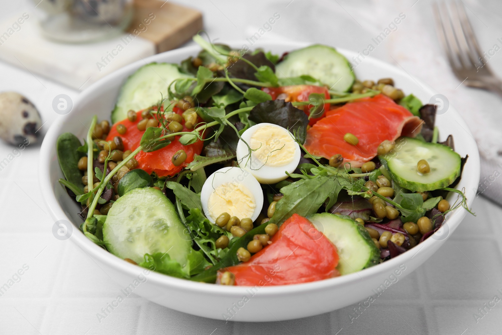
[(135, 111), (150, 107), (167, 97), (167, 87), (178, 78), (193, 77), (171, 63), (150, 63), (140, 67), (129, 76), (118, 94), (115, 108), (111, 111), (111, 122), (127, 118), (129, 109)]

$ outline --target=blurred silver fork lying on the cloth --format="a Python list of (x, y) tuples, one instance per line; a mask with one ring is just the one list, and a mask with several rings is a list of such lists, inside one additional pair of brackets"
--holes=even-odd
[(481, 88), (502, 96), (502, 81), (496, 77), (479, 48), (464, 6), (457, 1), (433, 4), (436, 32), (453, 73), (466, 86)]

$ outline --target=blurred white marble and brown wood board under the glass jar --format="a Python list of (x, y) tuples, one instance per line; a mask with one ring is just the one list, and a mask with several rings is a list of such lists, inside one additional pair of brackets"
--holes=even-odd
[[(202, 15), (194, 9), (165, 0), (135, 0), (134, 5), (136, 12), (128, 32), (87, 44), (44, 38), (30, 12), (22, 29), (0, 43), (0, 61), (30, 71), (37, 79), (41, 75), (82, 90), (132, 62), (179, 47), (202, 29)], [(0, 21), (0, 32), (12, 30), (22, 13)]]

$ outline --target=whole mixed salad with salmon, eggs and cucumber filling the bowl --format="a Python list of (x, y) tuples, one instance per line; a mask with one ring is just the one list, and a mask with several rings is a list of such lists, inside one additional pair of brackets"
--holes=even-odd
[(193, 281), (297, 284), (396, 257), (468, 210), (467, 157), (393, 79), (359, 81), (324, 45), (194, 40), (196, 57), (131, 75), (111, 123), (58, 139), (80, 230), (108, 252)]

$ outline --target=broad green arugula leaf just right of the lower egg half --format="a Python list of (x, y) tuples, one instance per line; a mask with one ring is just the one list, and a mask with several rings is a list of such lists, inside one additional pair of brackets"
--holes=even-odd
[(276, 211), (269, 222), (281, 225), (294, 213), (301, 216), (314, 214), (328, 197), (330, 202), (332, 201), (335, 195), (333, 190), (338, 187), (339, 183), (335, 182), (334, 177), (320, 175), (314, 179), (300, 179), (284, 186), (281, 188), (284, 196), (277, 202)]

